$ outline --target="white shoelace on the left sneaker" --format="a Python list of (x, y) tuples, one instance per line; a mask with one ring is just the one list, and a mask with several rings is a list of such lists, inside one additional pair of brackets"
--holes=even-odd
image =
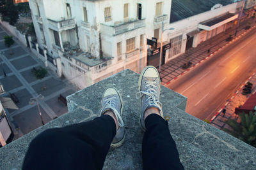
[(104, 106), (102, 106), (102, 108), (105, 108), (105, 107), (106, 108), (111, 108), (111, 110), (115, 114), (115, 117), (116, 117), (116, 120), (118, 122), (119, 127), (123, 127), (124, 126), (123, 119), (122, 119), (121, 115), (119, 114), (119, 112), (115, 108), (116, 99), (117, 99), (117, 97), (115, 97), (115, 96), (110, 97), (109, 99), (106, 99), (106, 101), (105, 101), (106, 103), (104, 104)]

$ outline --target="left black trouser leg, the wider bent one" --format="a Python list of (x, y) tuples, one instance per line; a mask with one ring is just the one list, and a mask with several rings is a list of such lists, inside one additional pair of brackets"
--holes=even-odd
[(109, 115), (48, 129), (30, 143), (22, 169), (102, 169), (115, 134)]

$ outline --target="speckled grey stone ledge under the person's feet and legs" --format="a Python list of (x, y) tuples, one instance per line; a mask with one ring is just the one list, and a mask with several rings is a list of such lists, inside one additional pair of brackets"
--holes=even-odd
[[(124, 99), (127, 136), (123, 146), (109, 150), (104, 169), (142, 169), (143, 132), (139, 127), (140, 102), (135, 97), (138, 77), (138, 74), (125, 70), (68, 96), (69, 113), (0, 149), (0, 169), (20, 169), (29, 142), (45, 129), (97, 117), (102, 92), (111, 86), (119, 89)], [(186, 113), (186, 101), (186, 97), (162, 87), (164, 115), (170, 117), (170, 131), (185, 169), (255, 169), (256, 148)]]

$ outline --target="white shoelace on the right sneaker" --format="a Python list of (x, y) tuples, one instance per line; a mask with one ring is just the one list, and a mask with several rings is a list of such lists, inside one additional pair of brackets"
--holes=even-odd
[[(157, 100), (157, 86), (154, 85), (156, 83), (158, 83), (157, 81), (145, 81), (146, 85), (145, 87), (150, 87), (148, 88), (146, 91), (140, 91), (136, 93), (136, 98), (140, 99), (140, 97), (142, 97), (143, 95), (147, 96), (146, 101), (148, 101), (148, 103), (150, 105), (155, 105), (157, 106), (157, 108), (159, 109), (160, 114), (163, 113), (162, 111), (162, 103), (160, 101)], [(147, 104), (147, 103), (145, 103)], [(147, 105), (145, 105), (147, 106)]]

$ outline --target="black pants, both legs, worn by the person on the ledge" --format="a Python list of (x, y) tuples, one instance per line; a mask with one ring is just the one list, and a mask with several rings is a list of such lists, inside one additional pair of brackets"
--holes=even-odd
[[(143, 169), (184, 169), (166, 121), (152, 114), (145, 125)], [(22, 169), (102, 169), (115, 134), (115, 121), (108, 115), (48, 129), (31, 141)]]

